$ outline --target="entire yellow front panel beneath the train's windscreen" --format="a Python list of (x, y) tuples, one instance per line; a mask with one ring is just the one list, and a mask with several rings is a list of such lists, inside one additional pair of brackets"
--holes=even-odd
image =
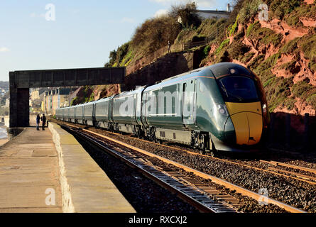
[(226, 103), (234, 124), (238, 145), (255, 145), (260, 142), (263, 130), (261, 102)]

